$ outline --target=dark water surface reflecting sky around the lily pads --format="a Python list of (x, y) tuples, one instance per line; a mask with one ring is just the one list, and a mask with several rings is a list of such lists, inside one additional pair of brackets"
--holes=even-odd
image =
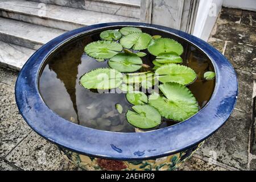
[[(151, 30), (145, 32), (155, 35)], [(158, 35), (164, 33), (158, 32)], [(168, 35), (163, 35), (168, 37)], [(125, 118), (131, 105), (121, 93), (94, 93), (82, 88), (79, 78), (96, 68), (108, 67), (108, 62), (98, 62), (84, 53), (86, 44), (98, 40), (98, 33), (67, 44), (49, 57), (40, 77), (40, 94), (47, 106), (61, 117), (93, 129), (134, 132)], [(205, 81), (205, 71), (213, 71), (210, 61), (195, 48), (178, 40), (184, 46), (183, 64), (195, 70), (198, 77), (188, 88), (195, 95), (202, 108), (209, 101), (214, 89), (214, 80)], [(146, 51), (145, 51), (146, 52)], [(147, 52), (146, 52), (147, 53)], [(155, 57), (147, 54), (143, 63), (152, 66)], [(121, 104), (123, 113), (119, 114), (115, 104)], [(174, 125), (174, 121), (164, 120), (158, 128)]]

